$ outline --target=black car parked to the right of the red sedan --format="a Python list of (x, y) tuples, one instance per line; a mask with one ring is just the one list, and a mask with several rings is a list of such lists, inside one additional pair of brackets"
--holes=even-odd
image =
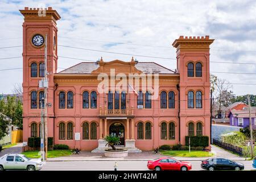
[(209, 171), (214, 170), (236, 170), (240, 171), (245, 168), (242, 163), (234, 162), (225, 158), (210, 158), (207, 160), (202, 160), (201, 168), (207, 169)]

